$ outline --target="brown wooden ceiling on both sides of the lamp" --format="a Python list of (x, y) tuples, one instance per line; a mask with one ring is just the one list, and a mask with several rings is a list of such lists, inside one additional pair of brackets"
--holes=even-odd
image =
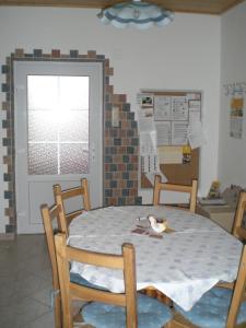
[[(221, 14), (244, 0), (149, 0), (174, 12)], [(0, 0), (0, 5), (105, 8), (124, 0)]]

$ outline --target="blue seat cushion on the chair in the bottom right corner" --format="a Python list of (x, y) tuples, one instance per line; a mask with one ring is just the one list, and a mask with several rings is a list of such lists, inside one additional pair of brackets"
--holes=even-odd
[[(229, 315), (232, 291), (213, 288), (194, 307), (186, 312), (176, 304), (175, 309), (185, 318), (201, 328), (224, 328)], [(246, 302), (242, 303), (237, 325), (246, 323)]]

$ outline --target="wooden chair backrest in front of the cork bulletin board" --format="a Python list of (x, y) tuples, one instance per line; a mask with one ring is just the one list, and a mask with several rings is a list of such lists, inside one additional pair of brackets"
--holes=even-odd
[(162, 183), (161, 175), (155, 175), (154, 190), (153, 190), (153, 204), (154, 206), (160, 204), (160, 196), (162, 190), (186, 192), (190, 195), (189, 210), (195, 213), (196, 204), (197, 204), (197, 188), (198, 188), (198, 184), (196, 179), (192, 180), (191, 186), (174, 185), (168, 183)]

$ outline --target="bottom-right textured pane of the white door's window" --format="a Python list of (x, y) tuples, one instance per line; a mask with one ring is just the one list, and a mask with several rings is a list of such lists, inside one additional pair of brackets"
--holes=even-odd
[(89, 173), (87, 144), (66, 143), (60, 145), (60, 174)]

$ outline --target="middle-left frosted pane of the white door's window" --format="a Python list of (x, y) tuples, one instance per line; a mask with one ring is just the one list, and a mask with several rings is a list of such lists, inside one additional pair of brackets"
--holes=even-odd
[(57, 121), (49, 112), (28, 112), (28, 139), (30, 141), (57, 141)]

